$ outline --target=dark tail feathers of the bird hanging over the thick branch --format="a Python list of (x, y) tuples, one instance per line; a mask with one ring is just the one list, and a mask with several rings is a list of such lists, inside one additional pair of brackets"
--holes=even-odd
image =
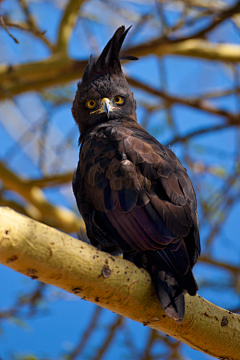
[(171, 261), (166, 261), (166, 255), (165, 250), (149, 252), (148, 270), (163, 310), (171, 319), (181, 323), (185, 314), (184, 293), (187, 290), (190, 295), (195, 295), (197, 283), (190, 267), (181, 274)]

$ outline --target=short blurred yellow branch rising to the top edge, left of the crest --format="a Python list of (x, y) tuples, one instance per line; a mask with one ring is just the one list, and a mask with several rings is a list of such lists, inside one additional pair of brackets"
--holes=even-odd
[(84, 1), (85, 0), (68, 1), (59, 26), (58, 39), (54, 49), (55, 53), (64, 52), (67, 54), (68, 42), (77, 21), (79, 8)]

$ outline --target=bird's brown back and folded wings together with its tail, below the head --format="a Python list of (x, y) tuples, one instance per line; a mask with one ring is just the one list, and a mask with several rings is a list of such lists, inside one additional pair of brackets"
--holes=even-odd
[[(104, 248), (112, 237), (126, 257), (146, 267), (163, 309), (181, 322), (184, 291), (197, 291), (191, 270), (200, 253), (196, 197), (176, 156), (134, 130), (102, 125), (81, 151), (85, 191), (100, 219), (96, 226), (104, 229), (89, 222), (88, 234)], [(76, 193), (76, 176), (73, 183)], [(85, 193), (82, 198), (87, 201)], [(104, 234), (110, 234), (107, 241)]]

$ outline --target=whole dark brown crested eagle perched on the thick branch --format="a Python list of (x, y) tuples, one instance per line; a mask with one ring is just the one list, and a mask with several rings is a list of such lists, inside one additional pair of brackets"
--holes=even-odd
[(200, 254), (196, 196), (175, 154), (136, 119), (123, 75), (122, 26), (90, 57), (73, 102), (81, 133), (73, 191), (94, 246), (144, 267), (166, 314), (181, 322), (184, 292), (195, 295)]

